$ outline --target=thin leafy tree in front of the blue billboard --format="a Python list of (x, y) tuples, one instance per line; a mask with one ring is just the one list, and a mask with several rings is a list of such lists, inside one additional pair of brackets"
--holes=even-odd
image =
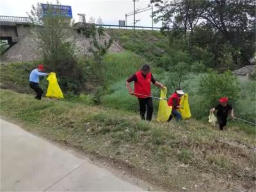
[[(56, 4), (60, 5), (57, 1)], [(71, 19), (63, 16), (60, 10), (52, 10), (48, 4), (49, 12), (42, 15), (41, 4), (32, 6), (29, 18), (33, 23), (33, 38), (42, 48), (44, 60), (51, 69), (56, 71), (61, 68), (61, 62), (72, 58), (74, 53)]]

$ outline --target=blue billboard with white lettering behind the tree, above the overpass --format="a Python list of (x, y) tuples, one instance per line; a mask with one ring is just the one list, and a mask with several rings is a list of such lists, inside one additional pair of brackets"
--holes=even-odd
[(47, 15), (49, 9), (52, 10), (52, 15), (57, 15), (57, 13), (62, 13), (65, 17), (72, 18), (71, 6), (58, 5), (58, 4), (44, 4), (41, 3), (43, 17)]

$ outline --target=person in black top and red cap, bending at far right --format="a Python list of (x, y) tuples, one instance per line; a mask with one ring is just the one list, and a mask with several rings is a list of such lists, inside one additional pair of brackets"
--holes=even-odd
[(234, 109), (230, 104), (228, 104), (228, 98), (222, 97), (219, 100), (220, 104), (218, 104), (215, 108), (210, 110), (211, 113), (214, 113), (217, 110), (217, 119), (219, 123), (220, 130), (223, 130), (223, 127), (227, 125), (228, 113), (231, 112), (232, 118), (234, 118)]

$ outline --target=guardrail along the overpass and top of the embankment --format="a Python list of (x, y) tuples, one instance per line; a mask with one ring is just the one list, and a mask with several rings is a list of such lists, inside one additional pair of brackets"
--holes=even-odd
[[(23, 22), (23, 23), (32, 23), (29, 17), (13, 17), (13, 16), (3, 16), (0, 15), (0, 22)], [(84, 23), (77, 22), (74, 26), (78, 28), (88, 28), (88, 26), (92, 26), (93, 23)], [(108, 24), (94, 24), (96, 27), (103, 27), (109, 29), (134, 29), (134, 26), (118, 26), (118, 25), (108, 25)], [(135, 29), (148, 29), (148, 30), (160, 30), (161, 28), (152, 28), (146, 26), (135, 26)]]

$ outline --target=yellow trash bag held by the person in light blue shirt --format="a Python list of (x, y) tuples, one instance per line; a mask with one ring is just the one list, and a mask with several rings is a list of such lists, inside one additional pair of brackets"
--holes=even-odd
[(47, 77), (47, 80), (49, 81), (49, 85), (45, 96), (51, 98), (63, 98), (63, 93), (61, 92), (58, 84), (56, 73), (51, 72), (51, 74), (49, 74)]

